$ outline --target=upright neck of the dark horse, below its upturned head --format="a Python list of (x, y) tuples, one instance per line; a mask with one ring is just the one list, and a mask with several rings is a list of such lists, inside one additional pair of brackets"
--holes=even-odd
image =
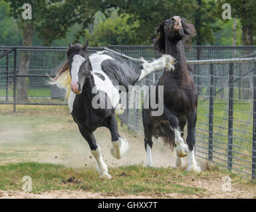
[(186, 55), (182, 40), (177, 42), (166, 39), (165, 54), (170, 54), (172, 57), (176, 59), (176, 64), (174, 64), (174, 75), (181, 77), (188, 75)]

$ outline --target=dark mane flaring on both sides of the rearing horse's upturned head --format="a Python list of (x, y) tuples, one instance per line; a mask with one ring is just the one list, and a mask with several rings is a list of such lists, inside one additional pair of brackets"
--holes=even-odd
[[(166, 36), (164, 34), (164, 26), (166, 25), (166, 21), (160, 23), (160, 25), (156, 28), (156, 33), (158, 33), (159, 36), (154, 42), (154, 48), (156, 48), (156, 50), (160, 51), (162, 54), (166, 52)], [(184, 18), (182, 18), (182, 27), (184, 28), (184, 37), (182, 38), (184, 49), (190, 50), (192, 49), (192, 38), (196, 34), (195, 27), (192, 23), (190, 23), (190, 21)]]

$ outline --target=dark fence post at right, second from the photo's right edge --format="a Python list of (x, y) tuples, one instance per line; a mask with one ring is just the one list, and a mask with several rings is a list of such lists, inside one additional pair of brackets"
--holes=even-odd
[(234, 64), (229, 64), (229, 129), (227, 140), (227, 168), (232, 170), (233, 160), (233, 104), (234, 104)]

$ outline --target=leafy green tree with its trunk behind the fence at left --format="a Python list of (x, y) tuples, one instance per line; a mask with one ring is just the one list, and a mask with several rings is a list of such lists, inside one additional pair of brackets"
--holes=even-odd
[[(21, 30), (23, 46), (31, 46), (33, 36), (37, 33), (43, 39), (44, 44), (51, 44), (54, 39), (64, 38), (70, 26), (78, 23), (81, 29), (76, 34), (78, 40), (80, 34), (93, 21), (96, 11), (105, 11), (108, 7), (102, 0), (5, 0), (9, 3), (10, 15)], [(29, 3), (32, 6), (32, 19), (23, 19), (23, 5)], [(80, 32), (80, 33), (79, 33)], [(29, 52), (22, 52), (19, 74), (29, 73)], [(17, 100), (27, 101), (27, 83), (25, 78), (17, 79)]]

